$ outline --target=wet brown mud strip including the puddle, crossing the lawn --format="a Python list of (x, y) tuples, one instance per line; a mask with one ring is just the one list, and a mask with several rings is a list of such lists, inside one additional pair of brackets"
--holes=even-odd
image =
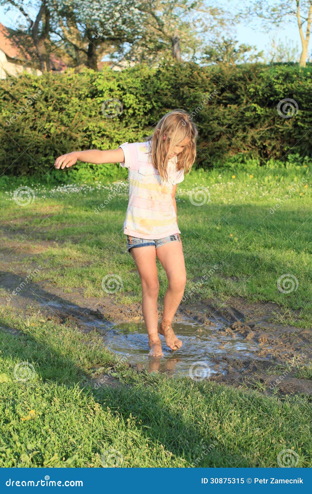
[[(72, 288), (67, 293), (49, 280), (29, 281), (18, 294), (12, 294), (27, 276), (27, 257), (39, 254), (40, 247), (44, 250), (48, 246), (55, 247), (55, 243), (40, 242), (32, 248), (24, 242), (18, 245), (15, 238), (5, 244), (0, 254), (1, 306), (14, 307), (21, 313), (40, 310), (56, 323), (75, 324), (84, 332), (95, 328), (117, 353), (123, 351), (121, 335), (128, 343), (133, 340), (135, 358), (128, 361), (137, 371), (163, 372), (173, 377), (188, 375), (190, 362), (205, 358), (211, 374), (204, 378), (259, 389), (269, 395), (276, 392), (312, 395), (312, 381), (297, 378), (295, 366), (282, 376), (274, 373), (275, 366), (289, 365), (295, 359), (303, 367), (311, 363), (312, 358), (312, 331), (273, 323), (272, 315), (282, 314), (277, 304), (250, 303), (241, 297), (229, 297), (224, 303), (215, 299), (181, 303), (173, 327), (178, 337), (184, 336), (185, 344), (176, 352), (169, 352), (164, 345), (164, 357), (151, 359), (140, 303), (116, 303), (114, 295), (86, 299), (82, 288)], [(38, 261), (27, 261), (27, 269), (37, 266)], [(158, 309), (161, 315), (161, 304)], [(107, 339), (108, 334), (110, 339)], [(94, 387), (120, 384), (118, 379), (98, 370), (94, 370), (90, 382)]]

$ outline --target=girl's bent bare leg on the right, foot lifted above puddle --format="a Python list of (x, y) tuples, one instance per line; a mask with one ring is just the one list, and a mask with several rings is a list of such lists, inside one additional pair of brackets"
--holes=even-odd
[(182, 346), (182, 342), (175, 335), (171, 322), (182, 299), (186, 283), (182, 245), (177, 241), (169, 242), (158, 247), (156, 255), (163, 265), (168, 278), (168, 289), (164, 298), (163, 320), (159, 325), (158, 331), (165, 336), (169, 348), (177, 350)]

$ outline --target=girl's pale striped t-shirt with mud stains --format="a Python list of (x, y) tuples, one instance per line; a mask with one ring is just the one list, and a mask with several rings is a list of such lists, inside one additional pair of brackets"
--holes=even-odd
[(165, 181), (149, 159), (149, 141), (125, 142), (118, 147), (125, 155), (120, 165), (129, 169), (124, 233), (148, 240), (181, 233), (171, 197), (173, 186), (184, 180), (184, 170), (176, 171), (177, 157), (168, 160), (168, 181)]

